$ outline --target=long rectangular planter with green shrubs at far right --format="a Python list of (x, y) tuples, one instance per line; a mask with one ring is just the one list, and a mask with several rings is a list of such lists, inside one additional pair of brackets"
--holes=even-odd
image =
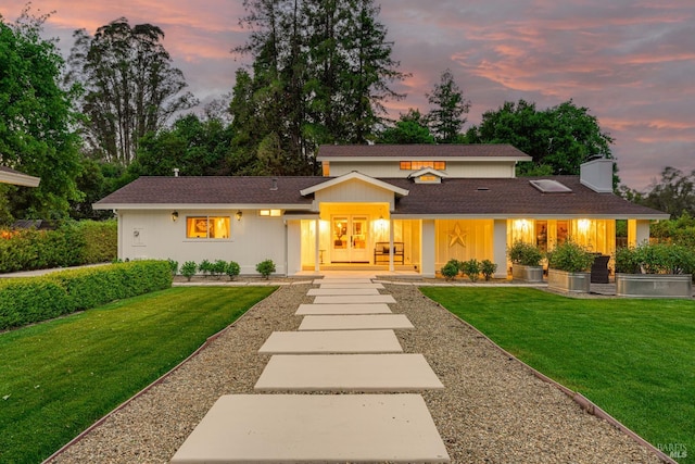
[(695, 251), (682, 244), (642, 243), (619, 248), (616, 294), (641, 298), (691, 298)]

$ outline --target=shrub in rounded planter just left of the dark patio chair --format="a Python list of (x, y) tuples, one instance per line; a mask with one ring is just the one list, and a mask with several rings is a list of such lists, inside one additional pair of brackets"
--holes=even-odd
[(581, 244), (567, 240), (547, 253), (547, 286), (553, 290), (587, 293), (591, 287), (589, 269), (595, 254)]

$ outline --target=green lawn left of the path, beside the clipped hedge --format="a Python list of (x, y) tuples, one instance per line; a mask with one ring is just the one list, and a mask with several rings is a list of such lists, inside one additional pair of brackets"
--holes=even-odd
[(0, 462), (40, 462), (274, 287), (172, 288), (0, 335)]

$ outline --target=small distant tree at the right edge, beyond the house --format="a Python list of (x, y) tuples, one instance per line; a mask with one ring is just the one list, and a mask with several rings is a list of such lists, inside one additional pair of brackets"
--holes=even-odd
[(685, 174), (675, 167), (665, 167), (661, 180), (652, 184), (650, 190), (636, 202), (669, 213), (671, 217), (684, 213), (695, 216), (695, 170)]

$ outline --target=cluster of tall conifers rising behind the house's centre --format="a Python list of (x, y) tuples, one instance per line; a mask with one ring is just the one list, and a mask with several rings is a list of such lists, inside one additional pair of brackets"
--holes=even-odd
[(262, 155), (261, 172), (273, 159), (281, 174), (306, 174), (318, 167), (318, 145), (372, 139), (383, 102), (402, 97), (389, 84), (404, 77), (372, 0), (244, 0), (244, 7), (251, 34), (233, 51), (253, 57), (253, 73), (237, 74), (235, 155)]

